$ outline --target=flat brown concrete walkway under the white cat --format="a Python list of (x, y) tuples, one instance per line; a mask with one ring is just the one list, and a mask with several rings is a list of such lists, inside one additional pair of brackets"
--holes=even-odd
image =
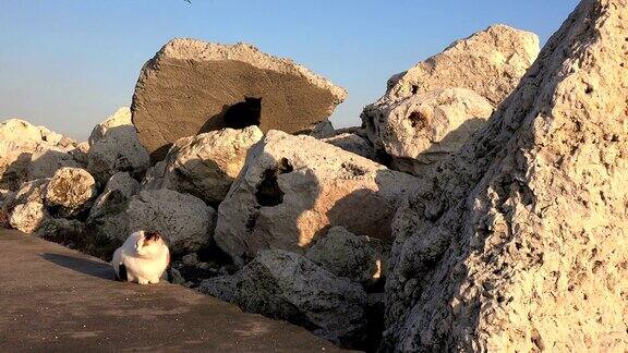
[(0, 229), (0, 352), (86, 350), (338, 351), (183, 287), (116, 282), (99, 259)]

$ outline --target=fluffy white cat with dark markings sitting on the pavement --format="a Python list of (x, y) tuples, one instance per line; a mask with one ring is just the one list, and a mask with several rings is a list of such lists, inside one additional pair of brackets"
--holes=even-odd
[(159, 283), (170, 263), (170, 251), (156, 232), (135, 232), (113, 253), (111, 266), (121, 281)]

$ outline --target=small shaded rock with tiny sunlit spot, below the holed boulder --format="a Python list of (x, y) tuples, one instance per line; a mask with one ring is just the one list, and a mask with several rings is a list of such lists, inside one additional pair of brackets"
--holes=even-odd
[(334, 227), (307, 251), (305, 257), (338, 277), (364, 283), (385, 277), (386, 247), (375, 239)]

